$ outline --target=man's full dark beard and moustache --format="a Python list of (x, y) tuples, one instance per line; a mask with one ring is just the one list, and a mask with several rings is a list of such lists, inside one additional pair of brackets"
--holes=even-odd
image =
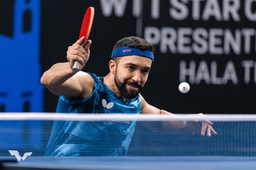
[[(122, 83), (117, 77), (117, 70), (116, 70), (116, 73), (115, 73), (114, 81), (115, 81), (116, 87), (119, 90), (120, 94), (124, 98), (127, 98), (127, 99), (135, 98), (139, 94), (139, 92), (143, 89), (143, 86), (139, 85), (137, 82), (134, 82), (134, 81), (125, 80), (124, 83)], [(130, 86), (133, 86), (133, 87), (136, 87), (138, 89), (128, 90), (126, 88), (126, 84), (128, 84)]]

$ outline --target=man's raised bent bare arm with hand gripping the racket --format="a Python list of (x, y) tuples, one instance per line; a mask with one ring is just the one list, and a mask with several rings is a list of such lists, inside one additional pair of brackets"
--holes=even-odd
[(83, 48), (80, 44), (84, 37), (77, 40), (67, 51), (67, 63), (57, 63), (44, 72), (41, 83), (46, 86), (54, 95), (87, 98), (94, 87), (93, 78), (79, 70), (73, 70), (74, 61), (81, 63), (80, 70), (85, 66), (90, 54), (91, 41), (88, 40)]

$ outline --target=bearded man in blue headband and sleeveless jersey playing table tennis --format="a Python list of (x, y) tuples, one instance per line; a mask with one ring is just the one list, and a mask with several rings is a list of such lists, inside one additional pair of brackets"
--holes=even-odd
[[(83, 48), (84, 37), (67, 51), (67, 63), (57, 63), (46, 71), (41, 83), (59, 95), (58, 113), (133, 113), (170, 114), (148, 104), (139, 94), (147, 81), (154, 60), (154, 47), (142, 38), (119, 40), (105, 77), (72, 70), (75, 61), (80, 70), (89, 59), (91, 40)], [(202, 114), (199, 114), (202, 116)], [(212, 122), (164, 122), (170, 133), (199, 132), (211, 136)], [(45, 156), (125, 156), (135, 121), (55, 121)], [(145, 124), (145, 123), (144, 123)], [(152, 128), (150, 124), (145, 124)], [(173, 132), (172, 132), (173, 131)]]

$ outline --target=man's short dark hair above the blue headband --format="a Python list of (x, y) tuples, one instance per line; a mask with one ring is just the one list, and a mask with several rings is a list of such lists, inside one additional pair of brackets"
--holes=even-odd
[[(120, 39), (117, 41), (117, 43), (114, 45), (113, 50), (117, 48), (122, 48), (122, 47), (133, 47), (133, 48), (138, 48), (142, 51), (144, 50), (150, 50), (152, 53), (154, 53), (155, 48), (152, 44), (148, 43), (145, 39), (136, 37), (136, 36), (131, 36), (131, 37), (125, 37), (123, 39)], [(112, 60), (115, 61), (116, 65), (118, 65), (120, 57), (113, 57)]]

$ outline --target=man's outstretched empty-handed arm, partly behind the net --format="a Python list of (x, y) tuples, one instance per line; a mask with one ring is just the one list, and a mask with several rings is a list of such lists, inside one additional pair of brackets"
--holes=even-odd
[[(177, 116), (175, 114), (172, 114), (170, 112), (167, 112), (165, 110), (160, 110), (159, 108), (156, 108), (150, 104), (148, 104), (145, 99), (140, 95), (141, 97), (141, 114), (168, 114), (170, 116)], [(197, 115), (189, 115), (189, 116), (203, 116), (202, 113)], [(159, 127), (155, 127), (156, 123), (154, 122), (142, 122), (143, 126), (146, 126), (148, 129), (157, 131), (159, 130)], [(204, 136), (205, 131), (207, 132), (207, 136), (211, 137), (212, 134), (216, 135), (217, 133), (213, 130), (212, 125), (213, 123), (210, 121), (203, 121), (203, 122), (194, 122), (194, 121), (163, 121), (161, 123), (162, 127), (161, 130), (171, 133), (171, 134), (177, 134), (177, 133), (197, 133), (201, 132), (201, 135)]]

